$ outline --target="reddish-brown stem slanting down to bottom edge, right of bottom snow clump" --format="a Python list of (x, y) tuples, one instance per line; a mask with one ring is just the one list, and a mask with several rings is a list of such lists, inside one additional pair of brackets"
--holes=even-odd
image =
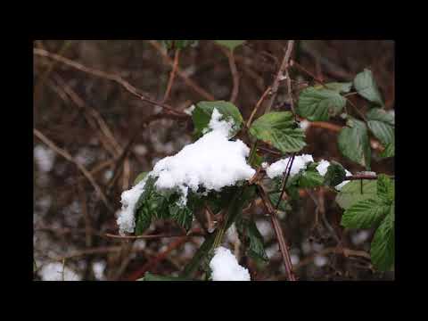
[(272, 225), (274, 226), (276, 239), (278, 240), (279, 250), (281, 251), (281, 255), (283, 257), (287, 278), (289, 281), (296, 281), (296, 277), (294, 276), (294, 273), (292, 271), (292, 259), (290, 256), (290, 251), (288, 249), (287, 243), (285, 242), (283, 230), (281, 228), (281, 223), (279, 222), (279, 219), (276, 215), (276, 210), (274, 209), (272, 202), (270, 202), (270, 199), (268, 198), (268, 194), (264, 190), (263, 186), (257, 185), (257, 187), (258, 187), (258, 192), (261, 197), (261, 200), (263, 201), (263, 204), (265, 205), (266, 210), (268, 210), (268, 214), (272, 221)]

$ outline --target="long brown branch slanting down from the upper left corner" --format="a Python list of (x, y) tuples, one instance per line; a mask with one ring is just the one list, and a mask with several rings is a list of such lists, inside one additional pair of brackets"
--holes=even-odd
[[(115, 81), (120, 86), (125, 88), (129, 93), (131, 93), (132, 95), (135, 95), (136, 97), (138, 97), (139, 99), (141, 99), (142, 101), (144, 101), (146, 103), (151, 103), (152, 105), (160, 106), (165, 111), (168, 111), (169, 113), (174, 114), (174, 115), (181, 115), (181, 116), (186, 115), (183, 111), (176, 111), (174, 108), (172, 108), (171, 106), (169, 106), (166, 103), (156, 102), (156, 101), (152, 100), (151, 98), (147, 97), (146, 95), (140, 94), (139, 90), (136, 89), (135, 86), (132, 86), (131, 84), (129, 84), (127, 80), (125, 80), (124, 78), (121, 78), (119, 75), (110, 74), (110, 73), (104, 72), (102, 70), (95, 70), (95, 69), (86, 67), (79, 62), (74, 62), (74, 61), (72, 61), (68, 58), (62, 57), (61, 55), (56, 54), (56, 53), (49, 53), (48, 51), (46, 51), (44, 49), (34, 48), (33, 53), (36, 55), (42, 56), (42, 57), (47, 57), (47, 58), (53, 59), (57, 62), (62, 62), (63, 64), (66, 64), (66, 65), (68, 65), (74, 69), (86, 72), (86, 73), (91, 74), (93, 76), (96, 76), (99, 78), (104, 78), (104, 79), (109, 79), (111, 81)], [(188, 116), (188, 115), (186, 115), (186, 116)]]

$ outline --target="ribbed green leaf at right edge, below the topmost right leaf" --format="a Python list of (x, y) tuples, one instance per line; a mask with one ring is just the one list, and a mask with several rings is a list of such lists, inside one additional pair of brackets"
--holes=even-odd
[(394, 142), (395, 117), (380, 108), (371, 109), (366, 113), (367, 126), (383, 145)]

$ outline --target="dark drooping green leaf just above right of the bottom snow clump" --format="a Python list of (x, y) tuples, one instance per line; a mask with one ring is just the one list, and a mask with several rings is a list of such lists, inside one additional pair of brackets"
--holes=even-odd
[(235, 226), (241, 239), (245, 235), (244, 243), (250, 244), (247, 248), (247, 254), (252, 259), (268, 261), (268, 255), (263, 245), (263, 236), (260, 234), (254, 221), (245, 218), (237, 219)]

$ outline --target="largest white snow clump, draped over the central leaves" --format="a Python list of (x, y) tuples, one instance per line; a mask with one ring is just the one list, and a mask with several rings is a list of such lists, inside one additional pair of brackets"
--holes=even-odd
[[(174, 190), (181, 195), (179, 204), (185, 206), (189, 188), (220, 191), (238, 181), (249, 180), (255, 170), (246, 162), (250, 148), (239, 139), (229, 141), (233, 122), (220, 120), (217, 109), (212, 111), (209, 128), (204, 136), (186, 145), (174, 156), (158, 161), (147, 177), (156, 178), (158, 191)], [(134, 232), (135, 207), (144, 191), (145, 179), (122, 193), (122, 210), (119, 213), (119, 232)]]

